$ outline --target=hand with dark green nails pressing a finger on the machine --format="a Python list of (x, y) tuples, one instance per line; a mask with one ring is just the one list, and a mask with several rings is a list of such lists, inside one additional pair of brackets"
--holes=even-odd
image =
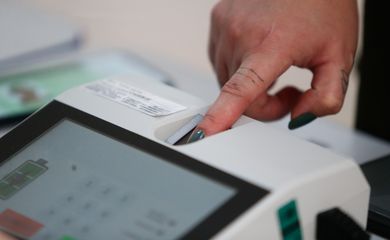
[[(340, 111), (358, 35), (356, 0), (222, 0), (213, 9), (209, 55), (222, 90), (198, 130), (212, 135), (242, 114), (290, 128)], [(310, 69), (311, 88), (267, 90), (290, 66)], [(201, 134), (202, 135), (202, 134)]]

